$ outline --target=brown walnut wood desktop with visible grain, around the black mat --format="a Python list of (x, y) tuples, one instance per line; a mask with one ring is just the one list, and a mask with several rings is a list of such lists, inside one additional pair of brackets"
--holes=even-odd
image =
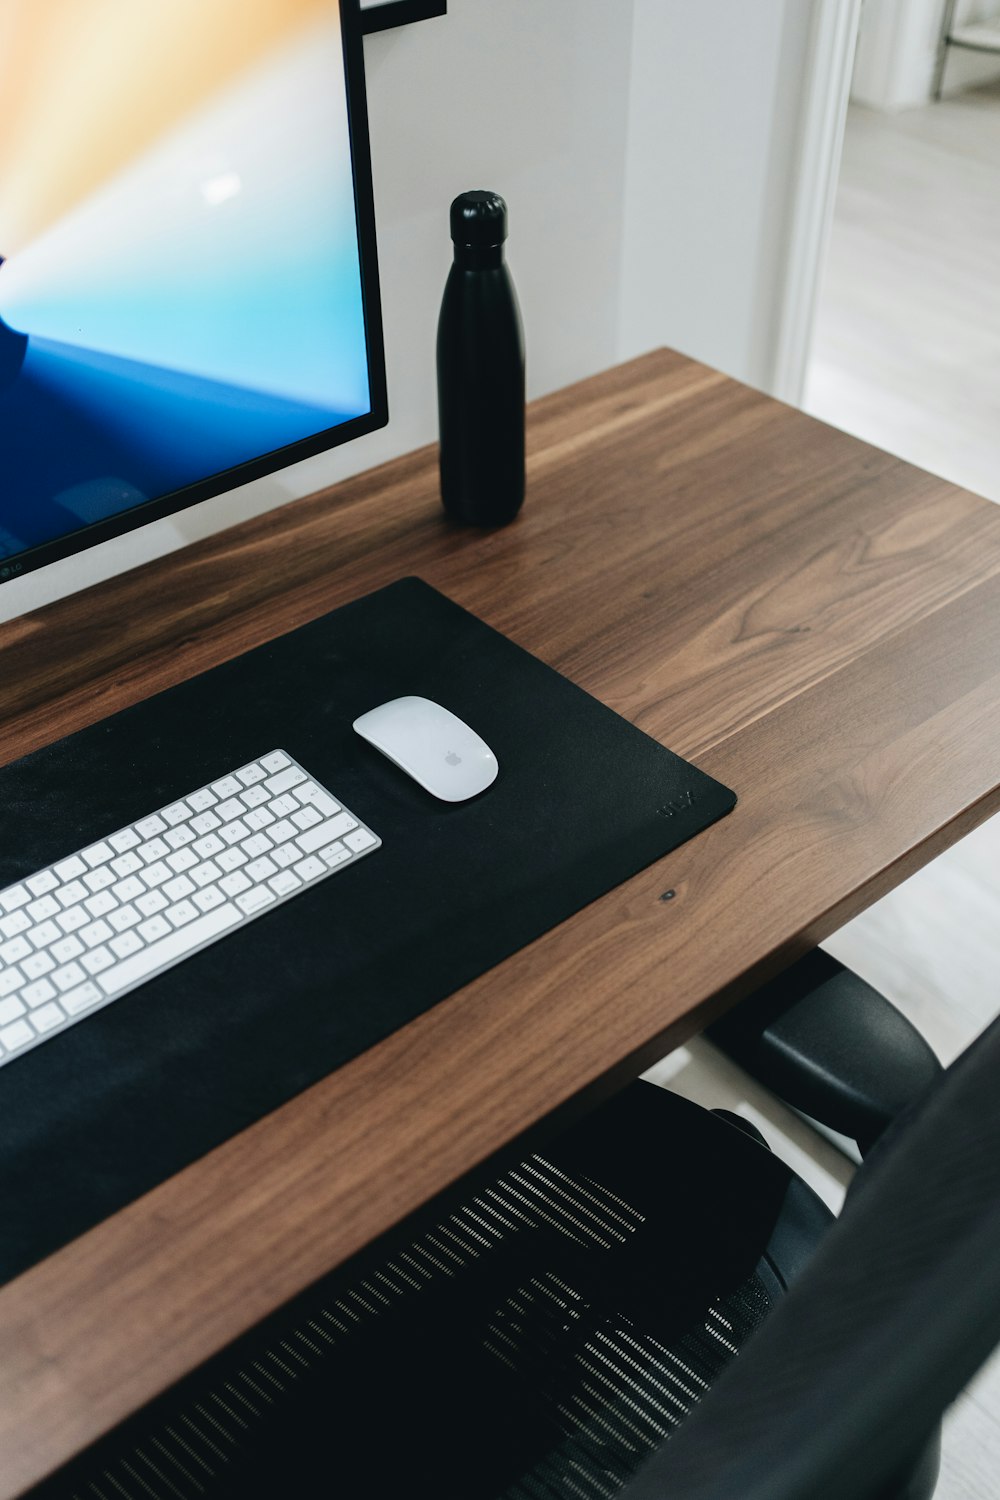
[(504, 531), (424, 448), (0, 630), (3, 762), (418, 573), (741, 798), (3, 1288), (0, 1497), (1000, 808), (1000, 507), (666, 351), (528, 453)]

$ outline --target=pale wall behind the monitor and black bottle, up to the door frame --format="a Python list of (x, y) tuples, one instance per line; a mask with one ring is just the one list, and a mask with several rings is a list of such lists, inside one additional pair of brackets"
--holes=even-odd
[(820, 3), (450, 0), (369, 38), (390, 426), (4, 584), (0, 618), (433, 441), (447, 210), (466, 188), (510, 204), (529, 394), (658, 344), (766, 386)]

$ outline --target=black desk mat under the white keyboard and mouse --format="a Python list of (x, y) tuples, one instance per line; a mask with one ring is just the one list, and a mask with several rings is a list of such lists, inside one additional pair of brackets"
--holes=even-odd
[[(487, 792), (438, 802), (354, 734), (406, 693), (483, 735)], [(402, 579), (0, 770), (0, 890), (279, 746), (382, 848), (0, 1068), (0, 1282), (736, 802)]]

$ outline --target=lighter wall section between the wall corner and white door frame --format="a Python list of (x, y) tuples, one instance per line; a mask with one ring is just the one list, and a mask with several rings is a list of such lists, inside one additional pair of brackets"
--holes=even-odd
[(672, 344), (771, 388), (816, 10), (636, 0), (622, 358)]

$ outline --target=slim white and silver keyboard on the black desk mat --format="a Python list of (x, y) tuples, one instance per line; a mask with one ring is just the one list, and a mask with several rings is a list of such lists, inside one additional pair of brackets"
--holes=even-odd
[(0, 891), (0, 1066), (378, 849), (283, 750)]

